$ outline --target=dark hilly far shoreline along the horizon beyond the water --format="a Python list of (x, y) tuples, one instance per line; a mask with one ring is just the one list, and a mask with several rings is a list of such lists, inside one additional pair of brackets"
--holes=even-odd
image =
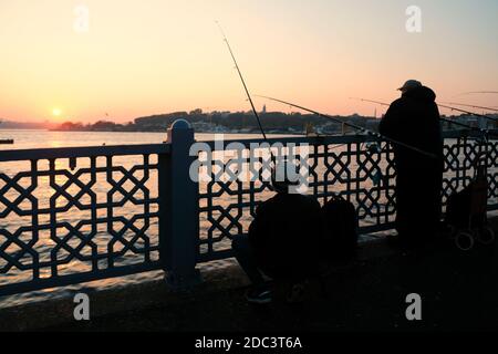
[[(498, 118), (498, 115), (490, 115)], [(333, 116), (334, 118), (352, 123), (369, 129), (376, 129), (380, 119), (365, 117), (357, 114), (351, 116)], [(498, 123), (477, 118), (469, 115), (445, 116), (460, 123), (481, 128), (496, 128)], [(0, 129), (51, 129), (63, 132), (165, 132), (173, 122), (185, 118), (194, 126), (197, 133), (259, 133), (259, 126), (252, 112), (210, 112), (201, 110), (191, 112), (173, 112), (138, 117), (133, 122), (120, 124), (111, 121), (96, 123), (64, 122), (53, 124), (49, 122), (24, 123), (4, 121), (0, 123)], [(343, 126), (331, 119), (313, 114), (261, 112), (261, 124), (269, 134), (303, 134), (315, 131), (322, 134), (336, 134), (343, 132)], [(444, 124), (445, 129), (455, 129), (455, 126)], [(351, 132), (351, 129), (347, 129)]]

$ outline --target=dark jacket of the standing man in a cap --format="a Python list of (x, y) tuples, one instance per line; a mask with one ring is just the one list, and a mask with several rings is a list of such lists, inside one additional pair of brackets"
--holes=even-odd
[(429, 168), (440, 166), (443, 160), (443, 136), (439, 110), (433, 90), (422, 86), (403, 94), (393, 102), (380, 124), (380, 133), (398, 142), (438, 156), (430, 159), (417, 152), (394, 146), (398, 168)]

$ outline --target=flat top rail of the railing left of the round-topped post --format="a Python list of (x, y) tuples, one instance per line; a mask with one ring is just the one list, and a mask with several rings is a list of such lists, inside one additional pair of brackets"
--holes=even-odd
[(169, 144), (12, 149), (12, 150), (0, 150), (0, 162), (169, 154), (169, 152), (170, 152)]

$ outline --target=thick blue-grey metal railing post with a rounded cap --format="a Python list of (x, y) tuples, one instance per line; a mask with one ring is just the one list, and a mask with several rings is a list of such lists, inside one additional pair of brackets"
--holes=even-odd
[(159, 156), (159, 252), (167, 283), (186, 289), (200, 282), (196, 269), (199, 237), (198, 185), (189, 176), (194, 129), (185, 119), (168, 129), (170, 154)]

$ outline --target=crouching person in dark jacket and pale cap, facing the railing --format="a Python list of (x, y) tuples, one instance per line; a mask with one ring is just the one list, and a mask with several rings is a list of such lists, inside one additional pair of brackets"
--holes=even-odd
[[(272, 289), (263, 274), (291, 284), (287, 300), (302, 298), (304, 280), (318, 269), (319, 241), (323, 233), (320, 204), (313, 197), (294, 192), (299, 183), (287, 174), (272, 174), (277, 195), (256, 209), (248, 236), (235, 237), (232, 250), (250, 279), (252, 287), (246, 293), (250, 303), (272, 301)], [(282, 176), (283, 175), (283, 176)]]

